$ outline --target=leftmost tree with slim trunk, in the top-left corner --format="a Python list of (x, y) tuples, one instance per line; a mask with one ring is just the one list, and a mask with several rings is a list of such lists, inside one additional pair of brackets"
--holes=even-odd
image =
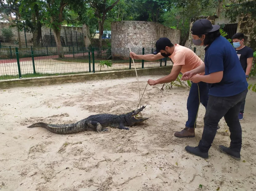
[(12, 18), (12, 15), (15, 16), (15, 20), (12, 20), (13, 25), (12, 27), (17, 27), (18, 31), (18, 39), (19, 39), (19, 48), (22, 47), (21, 45), (21, 37), (20, 31), (22, 31), (23, 25), (20, 21), (20, 12), (19, 12), (20, 2), (15, 0), (0, 0), (0, 13), (5, 14), (9, 18)]

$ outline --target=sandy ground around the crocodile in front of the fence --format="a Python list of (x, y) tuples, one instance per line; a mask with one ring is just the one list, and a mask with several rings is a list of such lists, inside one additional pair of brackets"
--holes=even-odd
[[(149, 78), (139, 77), (141, 94)], [(142, 112), (149, 120), (130, 130), (86, 131), (59, 135), (31, 123), (70, 123), (92, 114), (121, 114), (138, 104), (136, 78), (87, 81), (42, 87), (0, 90), (1, 190), (92, 191), (151, 190), (195, 191), (256, 190), (256, 94), (249, 92), (241, 121), (241, 161), (218, 151), (229, 146), (229, 131), (220, 122), (210, 158), (188, 154), (203, 131), (200, 106), (196, 138), (176, 138), (187, 120), (188, 90), (160, 91), (147, 86)], [(202, 188), (199, 188), (199, 185)]]

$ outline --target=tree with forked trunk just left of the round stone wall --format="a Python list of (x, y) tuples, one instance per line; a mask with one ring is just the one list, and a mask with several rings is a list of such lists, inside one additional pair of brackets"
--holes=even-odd
[(113, 9), (115, 5), (117, 5), (119, 0), (89, 0), (85, 1), (85, 3), (89, 3), (90, 7), (94, 11), (94, 15), (98, 20), (98, 27), (100, 33), (99, 39), (99, 48), (101, 48), (102, 34), (104, 31), (104, 22), (106, 19), (106, 14), (109, 10)]

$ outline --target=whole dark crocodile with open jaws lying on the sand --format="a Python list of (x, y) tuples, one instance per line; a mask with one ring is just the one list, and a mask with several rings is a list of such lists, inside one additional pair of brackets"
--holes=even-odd
[(133, 126), (136, 123), (141, 123), (148, 118), (137, 118), (136, 115), (140, 113), (146, 106), (142, 106), (139, 109), (133, 110), (126, 114), (114, 115), (114, 114), (97, 114), (90, 115), (89, 117), (82, 119), (76, 123), (63, 124), (63, 125), (54, 125), (47, 124), (43, 122), (34, 123), (28, 128), (32, 127), (43, 127), (52, 133), (56, 134), (73, 134), (83, 131), (108, 131), (106, 127), (114, 127), (118, 129), (129, 130), (125, 126)]

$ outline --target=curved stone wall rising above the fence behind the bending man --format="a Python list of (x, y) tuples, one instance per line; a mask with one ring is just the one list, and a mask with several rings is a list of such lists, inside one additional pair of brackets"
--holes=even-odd
[(160, 37), (180, 42), (180, 31), (155, 22), (116, 21), (111, 23), (112, 48), (154, 48)]

